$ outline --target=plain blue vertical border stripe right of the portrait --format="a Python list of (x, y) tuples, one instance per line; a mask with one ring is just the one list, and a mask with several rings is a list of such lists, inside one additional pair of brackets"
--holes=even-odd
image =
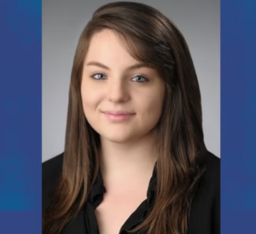
[(256, 2), (221, 1), (221, 233), (256, 233)]

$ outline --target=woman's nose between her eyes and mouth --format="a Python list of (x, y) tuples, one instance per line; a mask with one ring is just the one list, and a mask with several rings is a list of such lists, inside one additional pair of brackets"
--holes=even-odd
[(117, 81), (115, 79), (108, 85), (108, 100), (112, 102), (125, 102), (130, 99), (128, 84), (124, 81)]

